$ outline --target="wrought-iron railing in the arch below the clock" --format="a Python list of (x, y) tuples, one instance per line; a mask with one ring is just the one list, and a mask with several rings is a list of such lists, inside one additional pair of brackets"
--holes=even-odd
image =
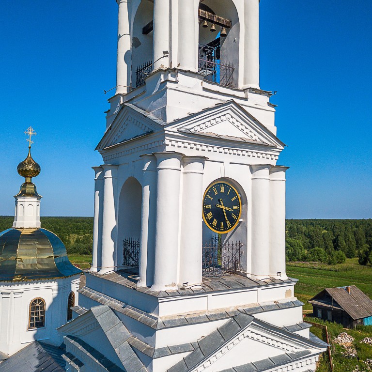
[(240, 241), (222, 243), (220, 235), (213, 235), (210, 243), (202, 247), (202, 275), (222, 276), (238, 271), (242, 247)]

